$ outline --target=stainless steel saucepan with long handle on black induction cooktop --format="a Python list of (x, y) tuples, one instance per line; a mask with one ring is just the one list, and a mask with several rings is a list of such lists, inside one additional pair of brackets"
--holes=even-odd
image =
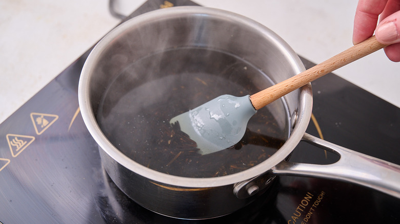
[[(165, 60), (168, 59), (168, 63), (162, 60), (144, 63), (146, 58), (152, 55), (179, 49), (196, 52), (199, 55), (188, 54), (174, 60), (175, 54), (168, 53), (169, 56), (164, 57)], [(203, 72), (209, 68), (211, 72), (218, 68), (218, 71), (232, 73), (229, 76), (232, 82), (235, 80), (238, 82), (236, 84), (243, 82), (241, 71), (230, 70), (239, 62), (225, 69), (230, 63), (229, 60), (209, 60), (210, 64), (196, 61), (197, 57), (204, 57), (203, 54), (210, 52), (218, 52), (237, 61), (246, 62), (247, 65), (241, 67), (244, 73), (251, 70), (268, 76), (252, 78), (249, 74), (250, 78), (246, 78), (254, 86), (260, 85), (260, 89), (266, 87), (264, 81), (278, 83), (305, 70), (295, 52), (271, 30), (243, 16), (204, 7), (174, 7), (132, 18), (99, 41), (84, 65), (78, 88), (79, 107), (83, 119), (99, 146), (107, 173), (136, 203), (154, 212), (178, 218), (203, 219), (222, 216), (251, 203), (265, 192), (275, 175), (332, 178), (400, 197), (400, 166), (336, 146), (305, 133), (312, 110), (310, 84), (267, 106), (275, 117), (276, 125), (282, 126), (282, 130), (287, 132), (287, 139), (268, 159), (241, 172), (202, 178), (172, 175), (148, 168), (146, 164), (132, 159), (129, 150), (122, 151), (119, 144), (111, 140), (113, 133), (123, 125), (118, 118), (129, 114), (130, 110), (133, 113), (138, 108), (148, 106), (152, 94), (155, 95), (153, 98), (163, 99), (167, 108), (173, 99), (166, 96), (168, 91), (163, 92), (163, 88), (172, 83), (168, 78), (175, 74), (173, 71), (168, 76), (159, 74), (163, 74), (163, 69), (170, 66), (177, 68), (176, 63), (182, 61), (182, 58), (187, 58), (184, 68), (176, 71), (194, 74), (193, 80), (196, 79), (196, 71), (193, 68), (199, 67)], [(144, 68), (132, 69), (132, 64), (141, 63), (144, 63)], [(186, 69), (188, 63), (190, 68)], [(155, 70), (158, 71), (157, 74), (146, 72)], [(129, 80), (119, 80), (121, 74), (126, 73), (132, 74)], [(215, 74), (215, 80), (217, 79), (218, 74)], [(126, 85), (117, 87), (114, 94), (117, 96), (116, 99), (108, 102), (104, 99), (104, 95), (110, 92), (110, 85), (118, 80), (121, 83), (125, 82)], [(195, 88), (196, 85), (191, 86), (191, 89)], [(134, 97), (135, 99), (131, 101), (132, 99), (127, 97), (128, 94), (123, 93), (124, 91), (131, 93), (131, 89), (141, 89), (135, 96), (143, 100), (136, 100)], [(249, 91), (255, 92), (254, 89)], [(107, 103), (113, 106), (127, 106), (129, 109), (113, 115), (115, 120), (109, 123), (111, 131), (106, 134), (104, 128), (99, 125), (99, 113), (104, 117), (111, 116), (110, 110), (102, 110)], [(160, 110), (165, 108), (161, 107)], [(178, 114), (177, 111), (170, 116)], [(142, 117), (143, 121), (156, 119), (151, 113), (145, 113)], [(132, 118), (132, 121), (125, 122), (128, 124), (134, 119), (137, 120)], [(142, 143), (150, 141), (146, 138), (134, 140), (135, 133), (138, 133), (134, 128), (124, 131), (123, 138), (121, 137), (122, 141), (125, 139), (128, 145), (131, 144), (132, 151), (137, 147), (135, 141)], [(339, 161), (330, 165), (287, 162), (286, 158), (301, 140), (337, 153), (340, 156)], [(187, 161), (190, 163), (190, 160)]]

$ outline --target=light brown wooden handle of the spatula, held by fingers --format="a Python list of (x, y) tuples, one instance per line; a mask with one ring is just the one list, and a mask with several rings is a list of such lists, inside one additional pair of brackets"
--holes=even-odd
[(264, 107), (265, 105), (285, 96), (295, 89), (306, 85), (307, 83), (320, 78), (342, 66), (369, 55), (386, 45), (379, 43), (375, 36), (354, 45), (346, 51), (339, 53), (328, 60), (313, 66), (302, 73), (299, 73), (285, 81), (279, 82), (269, 88), (250, 96), (251, 103), (255, 109)]

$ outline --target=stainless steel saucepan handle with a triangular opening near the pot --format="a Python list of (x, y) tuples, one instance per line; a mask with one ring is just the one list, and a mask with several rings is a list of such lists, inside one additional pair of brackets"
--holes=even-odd
[(363, 185), (400, 198), (400, 166), (352, 151), (305, 133), (303, 141), (331, 151), (340, 159), (328, 165), (283, 161), (271, 169), (275, 175), (299, 175), (330, 178)]

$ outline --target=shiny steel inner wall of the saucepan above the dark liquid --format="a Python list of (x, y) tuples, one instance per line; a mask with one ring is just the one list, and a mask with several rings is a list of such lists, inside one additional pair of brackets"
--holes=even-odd
[[(282, 40), (276, 39), (269, 30), (261, 29), (261, 25), (243, 22), (236, 17), (182, 13), (138, 23), (131, 20), (123, 26), (124, 31), (112, 34), (115, 35), (114, 39), (107, 43), (92, 65), (94, 72), (90, 77), (90, 96), (95, 114), (108, 83), (129, 64), (169, 49), (195, 47), (233, 54), (263, 71), (274, 83), (298, 72), (293, 68), (293, 64), (297, 63), (293, 55), (283, 51), (280, 46)], [(157, 63), (154, 61), (152, 66), (158, 66)], [(254, 77), (252, 81), (265, 83), (257, 79)], [(260, 86), (261, 89), (266, 87)], [(297, 108), (298, 94), (299, 91), (294, 91), (285, 97), (290, 114)], [(274, 110), (272, 106), (269, 109)], [(276, 119), (281, 125), (287, 125), (288, 116)]]

